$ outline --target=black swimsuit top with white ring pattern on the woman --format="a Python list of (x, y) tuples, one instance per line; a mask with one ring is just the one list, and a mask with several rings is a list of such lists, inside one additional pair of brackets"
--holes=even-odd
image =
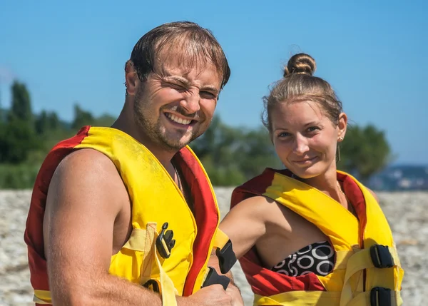
[(332, 272), (335, 266), (335, 250), (330, 243), (322, 241), (312, 243), (279, 262), (272, 271), (288, 276), (300, 276), (308, 273), (324, 276)]

